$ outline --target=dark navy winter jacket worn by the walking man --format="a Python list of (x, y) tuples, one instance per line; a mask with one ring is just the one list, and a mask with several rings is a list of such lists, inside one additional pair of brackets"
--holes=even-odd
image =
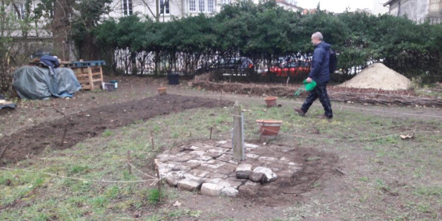
[(330, 45), (321, 42), (315, 45), (311, 61), (310, 74), (308, 77), (316, 83), (324, 83), (330, 80)]

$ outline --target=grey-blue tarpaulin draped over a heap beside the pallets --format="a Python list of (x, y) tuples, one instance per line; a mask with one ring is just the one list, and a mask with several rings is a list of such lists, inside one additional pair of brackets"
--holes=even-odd
[(73, 93), (81, 89), (70, 68), (56, 68), (52, 75), (47, 67), (23, 66), (16, 69), (13, 75), (13, 86), (22, 99), (72, 97)]

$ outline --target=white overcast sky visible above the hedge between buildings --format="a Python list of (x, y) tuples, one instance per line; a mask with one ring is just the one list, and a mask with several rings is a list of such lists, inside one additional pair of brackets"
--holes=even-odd
[(321, 9), (331, 12), (343, 12), (346, 7), (350, 7), (350, 11), (356, 10), (356, 8), (373, 9), (373, 0), (296, 0), (298, 6), (302, 8), (316, 8), (318, 2), (321, 1)]

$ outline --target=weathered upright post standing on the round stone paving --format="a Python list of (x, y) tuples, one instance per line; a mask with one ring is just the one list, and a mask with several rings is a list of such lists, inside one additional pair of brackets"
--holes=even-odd
[(244, 160), (244, 117), (238, 101), (233, 105), (233, 159)]

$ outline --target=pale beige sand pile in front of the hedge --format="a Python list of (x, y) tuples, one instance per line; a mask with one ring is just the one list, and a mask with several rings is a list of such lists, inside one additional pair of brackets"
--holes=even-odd
[(375, 88), (381, 90), (406, 90), (410, 80), (387, 68), (382, 63), (373, 63), (364, 68), (351, 80), (339, 84), (340, 87)]

